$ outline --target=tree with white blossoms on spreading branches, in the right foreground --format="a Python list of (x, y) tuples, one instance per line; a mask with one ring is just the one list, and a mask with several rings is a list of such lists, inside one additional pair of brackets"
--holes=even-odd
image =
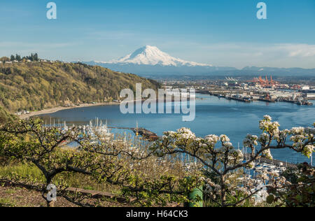
[[(314, 128), (294, 127), (290, 130), (279, 130), (280, 124), (272, 122), (272, 118), (265, 115), (260, 121), (259, 127), (262, 129), (260, 137), (248, 134), (244, 140), (244, 148), (250, 148), (251, 155), (244, 161), (244, 153), (236, 150), (230, 138), (226, 135), (209, 135), (205, 138), (198, 138), (192, 131), (186, 128), (178, 131), (167, 131), (164, 136), (153, 145), (152, 149), (158, 156), (176, 155), (183, 153), (197, 159), (208, 170), (214, 171), (219, 178), (221, 206), (230, 206), (226, 204), (226, 193), (228, 192), (227, 176), (229, 173), (242, 168), (251, 169), (254, 163), (260, 157), (272, 159), (270, 150), (289, 148), (295, 152), (301, 152), (310, 157), (314, 152)], [(287, 144), (288, 137), (292, 144)], [(260, 149), (258, 149), (258, 143)], [(276, 145), (272, 145), (276, 143)], [(220, 145), (220, 146), (218, 146)], [(207, 182), (206, 182), (207, 183)], [(256, 192), (250, 192), (248, 196), (253, 196)], [(244, 197), (235, 205), (250, 198)], [(234, 204), (233, 204), (234, 205)]]

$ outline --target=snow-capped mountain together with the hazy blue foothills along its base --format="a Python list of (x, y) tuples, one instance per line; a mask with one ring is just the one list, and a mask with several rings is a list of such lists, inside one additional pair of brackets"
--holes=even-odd
[(155, 46), (145, 46), (133, 53), (109, 62), (83, 62), (90, 65), (103, 66), (113, 71), (135, 73), (139, 76), (159, 78), (165, 76), (314, 76), (315, 69), (281, 69), (270, 67), (246, 66), (236, 69), (229, 66), (212, 66), (187, 62), (162, 52)]

